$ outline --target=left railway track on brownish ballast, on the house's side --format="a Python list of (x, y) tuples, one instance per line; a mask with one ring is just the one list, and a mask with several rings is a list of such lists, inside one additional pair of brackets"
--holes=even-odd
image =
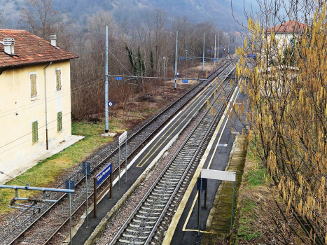
[[(230, 67), (231, 63), (225, 64), (221, 66), (217, 71), (209, 76), (208, 80), (202, 81), (195, 85), (191, 90), (189, 90), (186, 94), (184, 94), (180, 99), (176, 100), (173, 104), (168, 106), (165, 110), (159, 113), (157, 116), (152, 118), (146, 125), (141, 127), (137, 132), (130, 135), (127, 139), (127, 159), (132, 158), (137, 154), (139, 148), (146, 144), (153, 135), (160, 130), (167, 121), (169, 121), (176, 112), (179, 111), (185, 104), (187, 104), (190, 99), (192, 99), (195, 94), (200, 92), (204, 86), (206, 86), (214, 77), (221, 75), (224, 76), (226, 72), (226, 68)], [(124, 146), (125, 147), (125, 146)], [(122, 149), (122, 159), (125, 158), (125, 150)], [(114, 176), (117, 175), (118, 169), (118, 148), (108, 153), (108, 149), (104, 149), (102, 153), (99, 153), (95, 156), (95, 158), (91, 161), (92, 167), (92, 175), (97, 174), (99, 169), (102, 169), (107, 162), (113, 162)], [(123, 165), (123, 162), (120, 162), (120, 165)], [(74, 195), (73, 200), (73, 210), (74, 214), (77, 213), (83, 204), (85, 204), (85, 179), (81, 174), (81, 169), (77, 169), (76, 172), (69, 178), (70, 180), (74, 180), (76, 182), (76, 195)], [(91, 186), (91, 183), (89, 183)], [(103, 182), (102, 186), (99, 186), (99, 189), (105, 188), (106, 181)], [(62, 185), (57, 186), (57, 188), (62, 188)], [(91, 189), (91, 188), (90, 188)], [(89, 198), (92, 197), (92, 193), (88, 193)], [(49, 205), (49, 204), (41, 204), (41, 214), (28, 214), (27, 211), (23, 211), (19, 216), (15, 217), (13, 221), (4, 224), (2, 228), (0, 228), (0, 244), (18, 244), (20, 241), (24, 240), (27, 243), (36, 243), (36, 244), (48, 244), (51, 237), (55, 235), (63, 225), (68, 221), (68, 210), (67, 210), (67, 195), (55, 195), (50, 194), (48, 199), (57, 200), (57, 204)], [(53, 211), (56, 209), (56, 211)], [(49, 213), (55, 213), (55, 218), (44, 218)], [(60, 215), (58, 215), (60, 214)], [(50, 222), (49, 222), (50, 221)], [(30, 235), (26, 235), (26, 233), (31, 230), (34, 225), (38, 227), (42, 227), (42, 223), (48, 223), (51, 226), (43, 227), (43, 229), (38, 230), (38, 241), (35, 242), (35, 235), (33, 232)], [(51, 234), (51, 235), (50, 235)], [(24, 236), (24, 239), (22, 237)], [(30, 237), (30, 238), (29, 238)]]

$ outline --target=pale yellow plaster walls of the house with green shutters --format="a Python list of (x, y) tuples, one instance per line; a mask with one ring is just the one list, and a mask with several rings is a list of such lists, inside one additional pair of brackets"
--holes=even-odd
[[(0, 75), (0, 170), (5, 173), (46, 151), (46, 106), (49, 148), (71, 136), (70, 61), (53, 62), (46, 68), (45, 89), (44, 68), (49, 63), (13, 67)], [(58, 68), (62, 72), (60, 91), (55, 80)], [(31, 99), (29, 74), (33, 72), (37, 97)], [(58, 112), (62, 112), (61, 132), (57, 130)], [(34, 121), (38, 121), (36, 143), (32, 141)]]

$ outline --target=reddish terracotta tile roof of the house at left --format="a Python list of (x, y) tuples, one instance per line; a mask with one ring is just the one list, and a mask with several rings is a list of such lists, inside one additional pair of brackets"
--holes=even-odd
[(78, 58), (77, 55), (53, 47), (48, 41), (25, 30), (0, 29), (0, 41), (6, 37), (14, 38), (17, 56), (7, 55), (4, 52), (4, 45), (0, 44), (0, 68)]

